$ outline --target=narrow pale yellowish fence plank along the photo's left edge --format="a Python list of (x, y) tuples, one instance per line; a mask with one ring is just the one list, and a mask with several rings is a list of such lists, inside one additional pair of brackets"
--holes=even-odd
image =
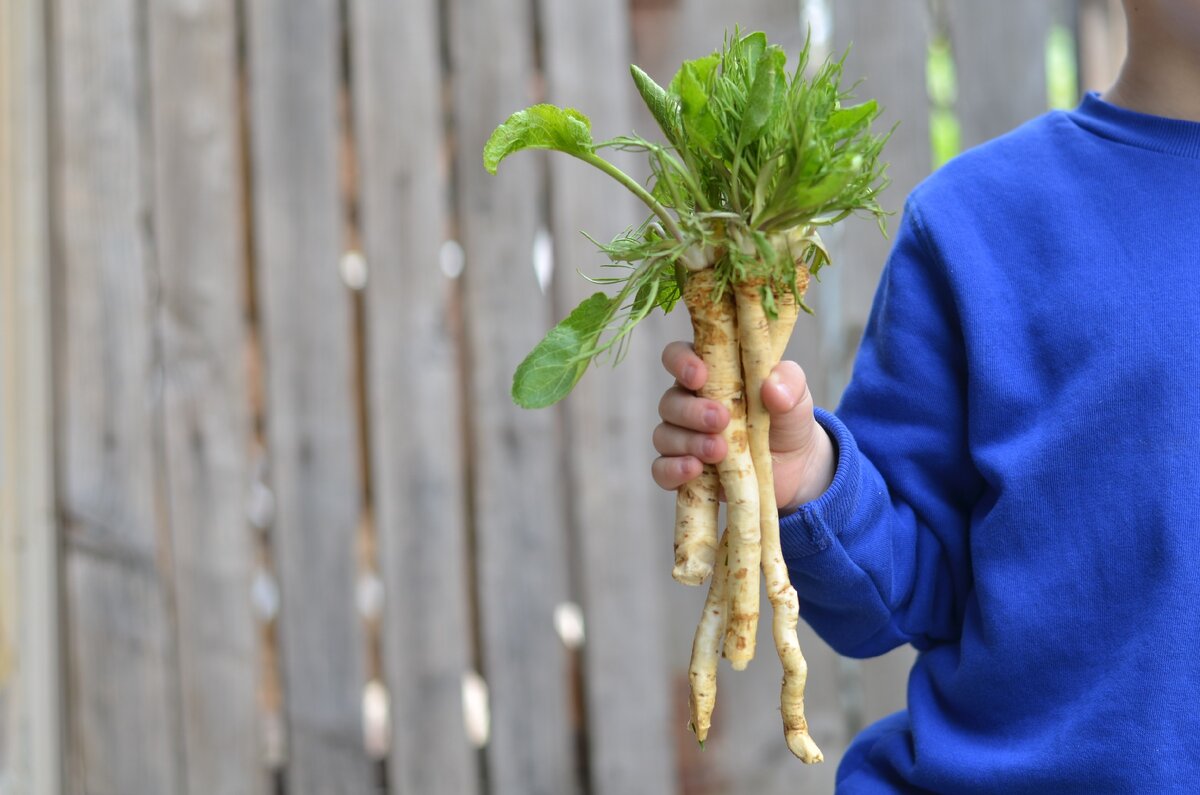
[(0, 793), (60, 793), (46, 30), (0, 0)]

